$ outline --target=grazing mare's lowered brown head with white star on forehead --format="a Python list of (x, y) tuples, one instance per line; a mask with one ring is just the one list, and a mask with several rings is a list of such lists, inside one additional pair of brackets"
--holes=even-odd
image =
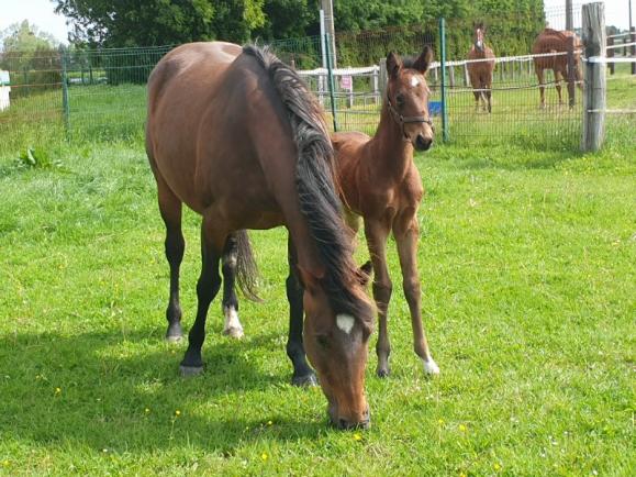
[[(370, 264), (354, 274), (348, 297), (334, 297), (325, 284), (301, 269), (305, 322), (303, 344), (328, 401), (332, 423), (339, 429), (367, 428), (369, 407), (365, 396), (365, 368), (373, 307), (364, 286)], [(331, 295), (331, 296), (330, 296)]]

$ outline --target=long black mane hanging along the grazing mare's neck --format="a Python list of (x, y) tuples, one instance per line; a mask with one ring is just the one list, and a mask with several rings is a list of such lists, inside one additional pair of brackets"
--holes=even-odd
[(370, 313), (361, 313), (366, 301), (353, 292), (357, 267), (352, 258), (352, 237), (342, 219), (334, 149), (322, 109), (300, 76), (267, 48), (247, 45), (243, 53), (256, 58), (267, 71), (287, 111), (298, 147), (295, 187), (300, 210), (325, 267), (320, 282), (335, 313), (348, 313), (369, 328), (365, 319), (370, 319)]

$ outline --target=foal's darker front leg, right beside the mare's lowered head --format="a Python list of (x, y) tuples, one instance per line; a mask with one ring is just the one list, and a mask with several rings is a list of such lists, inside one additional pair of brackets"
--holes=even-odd
[(369, 255), (373, 264), (373, 299), (378, 307), (378, 343), (376, 353), (378, 354), (377, 374), (383, 378), (389, 376), (389, 355), (391, 354), (391, 342), (389, 341), (389, 329), (387, 325), (387, 313), (393, 285), (387, 267), (387, 239), (389, 237), (390, 220), (365, 219), (365, 234)]

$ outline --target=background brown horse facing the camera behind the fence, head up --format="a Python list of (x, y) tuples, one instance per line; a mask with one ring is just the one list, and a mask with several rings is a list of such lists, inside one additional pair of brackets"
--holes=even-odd
[[(472, 93), (475, 95), (475, 110), (479, 110), (479, 101), (481, 100), (482, 108), (486, 111), (486, 102), (488, 100), (488, 112), (492, 111), (491, 104), (491, 89), (492, 89), (492, 73), (494, 71), (494, 53), (486, 46), (484, 43), (486, 29), (483, 23), (475, 25), (475, 43), (468, 52), (468, 59), (484, 59), (483, 62), (468, 63), (468, 76), (470, 77), (470, 85), (472, 86)], [(488, 60), (492, 58), (492, 60)]]

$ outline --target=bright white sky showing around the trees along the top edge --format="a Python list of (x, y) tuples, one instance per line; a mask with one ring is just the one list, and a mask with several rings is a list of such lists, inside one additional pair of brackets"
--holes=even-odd
[[(338, 0), (335, 0), (338, 1)], [(605, 2), (605, 23), (615, 25), (621, 29), (627, 29), (628, 20), (628, 1), (629, 0), (604, 0)], [(546, 11), (559, 11), (565, 0), (544, 0)], [(573, 0), (574, 4), (581, 1)], [(37, 25), (41, 31), (51, 33), (57, 41), (66, 43), (68, 26), (63, 15), (54, 13), (55, 4), (51, 0), (0, 0), (0, 32), (13, 23), (29, 20), (30, 23)], [(636, 0), (632, 0), (632, 19), (636, 24)], [(556, 29), (562, 29), (564, 25), (553, 24)]]

